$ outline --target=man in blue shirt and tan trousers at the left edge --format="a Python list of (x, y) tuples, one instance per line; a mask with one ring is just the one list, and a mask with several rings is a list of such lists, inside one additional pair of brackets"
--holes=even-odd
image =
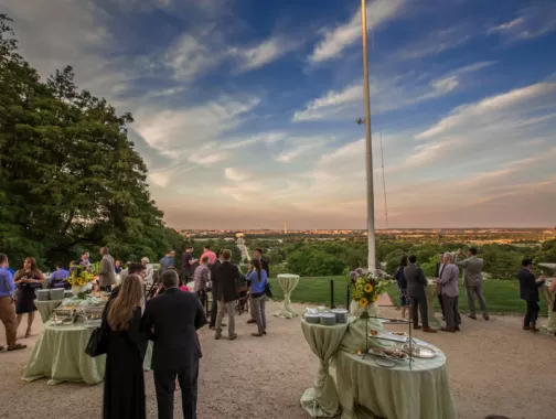
[[(8, 256), (0, 254), (0, 321), (6, 327), (6, 339), (8, 351), (24, 350), (26, 345), (17, 343), (18, 319), (15, 316), (15, 304), (13, 303), (13, 276), (8, 270)], [(0, 351), (4, 347), (0, 345)]]

